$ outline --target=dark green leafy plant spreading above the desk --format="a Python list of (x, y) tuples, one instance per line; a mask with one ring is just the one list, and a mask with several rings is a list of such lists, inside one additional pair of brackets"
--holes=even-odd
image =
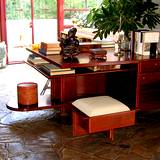
[(85, 26), (96, 28), (96, 37), (106, 38), (110, 32), (123, 31), (129, 39), (130, 31), (160, 24), (158, 4), (151, 0), (103, 0), (101, 5), (90, 10)]

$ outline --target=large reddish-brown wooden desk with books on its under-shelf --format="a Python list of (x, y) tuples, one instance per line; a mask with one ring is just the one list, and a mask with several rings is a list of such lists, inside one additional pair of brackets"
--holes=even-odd
[[(70, 104), (75, 99), (96, 95), (110, 95), (137, 111), (160, 106), (159, 56), (151, 59), (137, 55), (131, 59), (124, 54), (118, 58), (113, 52), (108, 52), (107, 60), (98, 60), (90, 58), (89, 53), (83, 53), (71, 60), (61, 55), (44, 56), (37, 50), (27, 50), (61, 68), (75, 69), (75, 74), (50, 76), (32, 65), (51, 80), (51, 102), (58, 103), (62, 112), (70, 113)], [(95, 66), (105, 66), (106, 69), (96, 72), (89, 69)]]

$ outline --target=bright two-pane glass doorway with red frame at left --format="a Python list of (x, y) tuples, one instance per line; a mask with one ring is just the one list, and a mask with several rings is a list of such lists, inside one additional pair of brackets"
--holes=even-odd
[(57, 40), (56, 0), (6, 0), (8, 62), (23, 62), (32, 43)]

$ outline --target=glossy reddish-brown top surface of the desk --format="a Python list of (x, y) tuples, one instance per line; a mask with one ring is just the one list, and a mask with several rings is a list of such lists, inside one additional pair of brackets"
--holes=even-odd
[[(109, 51), (106, 54), (106, 59), (95, 59), (91, 57), (89, 53), (80, 53), (75, 56), (73, 59), (63, 57), (62, 55), (43, 55), (38, 50), (32, 50), (27, 48), (28, 51), (33, 54), (47, 60), (50, 63), (53, 63), (61, 68), (78, 68), (78, 67), (90, 67), (90, 66), (104, 66), (104, 65), (119, 65), (119, 64), (133, 64), (138, 63), (139, 61), (150, 60), (150, 56), (136, 55), (134, 58), (131, 58), (128, 53), (124, 53), (123, 56), (115, 56), (113, 51)], [(160, 59), (158, 55), (154, 59)]]

